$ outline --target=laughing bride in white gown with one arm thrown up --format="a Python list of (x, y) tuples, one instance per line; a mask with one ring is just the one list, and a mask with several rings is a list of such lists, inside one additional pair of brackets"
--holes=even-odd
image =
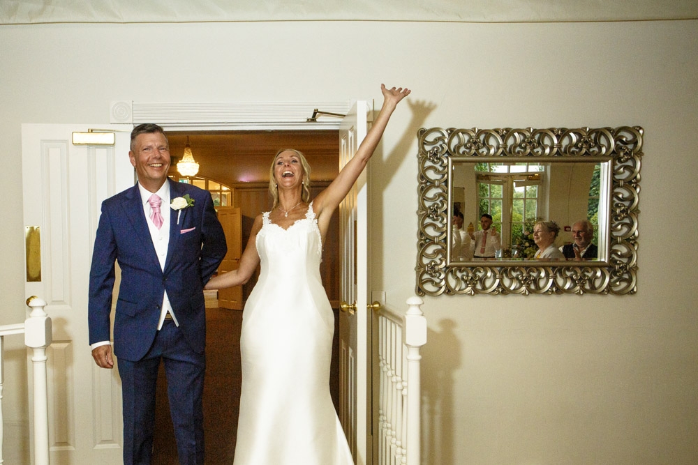
[(272, 211), (253, 224), (239, 268), (206, 289), (238, 286), (258, 264), (243, 313), (242, 395), (235, 465), (352, 465), (329, 394), (334, 314), (322, 287), (322, 243), (332, 213), (366, 167), (396, 105), (410, 91), (386, 89), (356, 155), (310, 200), (310, 167), (284, 149), (270, 169)]

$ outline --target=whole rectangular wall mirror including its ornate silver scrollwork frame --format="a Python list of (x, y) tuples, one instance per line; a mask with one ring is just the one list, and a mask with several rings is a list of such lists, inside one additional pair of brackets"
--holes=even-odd
[(634, 294), (643, 135), (419, 130), (417, 293)]

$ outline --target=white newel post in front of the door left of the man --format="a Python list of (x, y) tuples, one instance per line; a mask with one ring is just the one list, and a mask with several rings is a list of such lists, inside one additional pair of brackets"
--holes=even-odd
[(46, 382), (46, 348), (53, 341), (51, 319), (44, 312), (46, 303), (38, 297), (27, 299), (31, 307), (24, 321), (24, 344), (33, 351), (34, 367), (34, 464), (48, 465), (48, 397)]

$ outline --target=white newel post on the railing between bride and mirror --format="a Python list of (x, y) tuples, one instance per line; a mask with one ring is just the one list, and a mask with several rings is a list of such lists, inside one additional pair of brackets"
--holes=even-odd
[(421, 415), (420, 402), (422, 391), (420, 386), (419, 349), (426, 344), (426, 318), (420, 306), (424, 301), (417, 297), (407, 299), (408, 310), (405, 314), (405, 345), (407, 346), (407, 386), (410, 390), (408, 399), (407, 423), (407, 465), (419, 465), (422, 438), (420, 437)]

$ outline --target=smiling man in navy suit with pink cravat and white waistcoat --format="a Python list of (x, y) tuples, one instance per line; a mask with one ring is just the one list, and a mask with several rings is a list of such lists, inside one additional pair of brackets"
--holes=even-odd
[(124, 464), (149, 464), (158, 367), (165, 365), (180, 464), (204, 463), (204, 284), (227, 247), (211, 195), (168, 180), (163, 128), (131, 132), (138, 183), (102, 204), (89, 280), (89, 343), (103, 368), (114, 367), (110, 312), (114, 261), (121, 284), (114, 314), (114, 355), (124, 404)]

